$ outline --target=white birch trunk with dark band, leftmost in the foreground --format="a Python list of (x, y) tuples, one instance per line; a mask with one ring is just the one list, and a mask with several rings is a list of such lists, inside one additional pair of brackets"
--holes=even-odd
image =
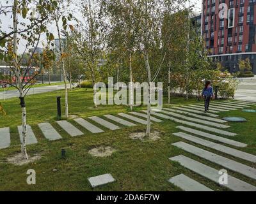
[(17, 59), (17, 6), (18, 1), (13, 1), (13, 65), (15, 68), (15, 75), (16, 83), (19, 85), (19, 92), (20, 92), (20, 106), (21, 106), (21, 119), (22, 119), (22, 144), (21, 144), (21, 153), (22, 157), (24, 159), (28, 159), (27, 149), (26, 149), (26, 136), (27, 136), (27, 124), (26, 124), (26, 105), (25, 105), (25, 99), (24, 99), (24, 92), (22, 89), (22, 80), (21, 80), (21, 71), (18, 65), (18, 59)]

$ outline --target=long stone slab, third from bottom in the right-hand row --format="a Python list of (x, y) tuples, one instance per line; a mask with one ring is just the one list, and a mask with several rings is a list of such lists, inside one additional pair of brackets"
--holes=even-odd
[(185, 142), (176, 142), (176, 143), (172, 143), (172, 145), (175, 147), (179, 147), (180, 149), (185, 150), (186, 152), (189, 152), (191, 154), (195, 154), (198, 157), (207, 159), (208, 161), (211, 161), (212, 163), (219, 164), (219, 165), (223, 166), (224, 168), (228, 168), (232, 171), (236, 171), (237, 173), (246, 175), (247, 177), (250, 177), (252, 179), (256, 179), (256, 169), (255, 168), (246, 166), (245, 164), (238, 163), (237, 161), (228, 159), (228, 158), (220, 156), (218, 154), (214, 154), (207, 150), (200, 149), (193, 145), (189, 145), (188, 143), (185, 143)]

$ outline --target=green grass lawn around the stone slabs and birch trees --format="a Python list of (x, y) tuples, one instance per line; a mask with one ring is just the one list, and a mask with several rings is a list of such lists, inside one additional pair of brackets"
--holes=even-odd
[[(36, 145), (28, 145), (28, 153), (29, 155), (40, 153), (42, 154), (42, 159), (24, 166), (13, 166), (13, 164), (6, 163), (7, 157), (20, 152), (19, 135), (16, 127), (20, 124), (19, 99), (13, 98), (1, 102), (7, 115), (4, 117), (0, 116), (0, 128), (11, 128), (12, 143), (10, 148), (0, 150), (0, 191), (179, 191), (180, 189), (178, 187), (168, 183), (167, 180), (180, 173), (184, 173), (188, 177), (191, 177), (191, 179), (198, 180), (198, 182), (215, 191), (228, 190), (168, 159), (169, 157), (183, 154), (218, 170), (222, 169), (218, 164), (210, 163), (205, 159), (201, 159), (171, 145), (174, 142), (186, 141), (172, 135), (172, 133), (179, 131), (175, 126), (180, 124), (169, 120), (164, 120), (161, 123), (154, 122), (152, 129), (160, 131), (161, 138), (154, 142), (141, 142), (140, 140), (131, 140), (129, 134), (145, 131), (146, 127), (143, 125), (125, 128), (118, 124), (122, 129), (118, 129), (117, 131), (110, 131), (104, 127), (100, 127), (105, 130), (104, 133), (92, 134), (86, 131), (86, 129), (81, 128), (81, 126), (71, 119), (69, 121), (85, 133), (83, 136), (71, 138), (55, 122), (56, 96), (61, 96), (63, 106), (64, 91), (35, 94), (26, 98), (28, 124), (32, 126), (38, 139)], [(87, 117), (92, 115), (99, 115), (101, 117), (105, 113), (129, 112), (128, 106), (100, 106), (97, 109), (93, 108), (92, 89), (75, 89), (70, 91), (68, 99), (69, 113), (84, 117), (92, 123), (94, 122), (87, 119)], [(166, 102), (166, 98), (164, 98), (164, 102)], [(172, 98), (172, 103), (180, 105), (197, 103), (197, 101), (196, 99), (184, 101), (184, 98), (175, 97)], [(145, 107), (140, 106), (134, 109), (140, 110), (142, 108)], [(253, 108), (256, 107), (254, 106)], [(64, 109), (62, 111), (64, 113)], [(224, 116), (240, 116), (248, 120), (246, 123), (227, 123), (230, 126), (227, 131), (238, 133), (237, 136), (231, 139), (248, 144), (246, 148), (237, 149), (256, 155), (255, 113), (244, 113), (241, 110), (220, 113), (220, 117)], [(62, 140), (49, 142), (44, 138), (36, 124), (45, 121), (51, 122), (52, 126), (63, 137)], [(196, 145), (192, 142), (187, 143)], [(88, 150), (99, 147), (100, 145), (109, 145), (117, 151), (112, 156), (103, 158), (93, 157), (88, 154)], [(196, 146), (202, 147), (200, 145)], [(206, 147), (202, 148), (247, 164), (248, 166), (256, 167), (255, 164), (248, 161), (237, 159), (236, 157)], [(65, 159), (61, 159), (61, 149), (67, 150), (67, 157)], [(54, 168), (58, 171), (53, 172), (52, 170)], [(35, 186), (29, 186), (26, 183), (28, 177), (26, 171), (28, 169), (34, 169), (36, 171)], [(87, 178), (104, 173), (111, 173), (116, 179), (116, 182), (92, 189)], [(234, 171), (228, 170), (228, 174), (256, 186), (256, 181), (253, 179)]]

